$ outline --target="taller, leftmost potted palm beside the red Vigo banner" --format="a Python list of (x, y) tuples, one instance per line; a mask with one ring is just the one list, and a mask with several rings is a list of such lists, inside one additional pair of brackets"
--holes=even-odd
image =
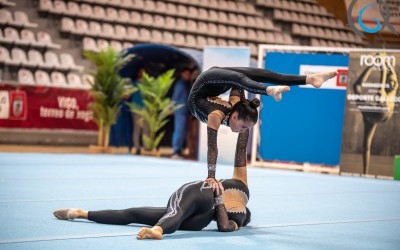
[(90, 95), (92, 102), (89, 104), (93, 111), (93, 118), (98, 125), (98, 146), (91, 146), (91, 151), (110, 152), (108, 147), (110, 129), (115, 124), (121, 101), (137, 91), (130, 84), (129, 78), (119, 75), (121, 68), (132, 59), (132, 55), (119, 54), (113, 48), (100, 52), (85, 51), (84, 56), (96, 67), (91, 73), (93, 81)]

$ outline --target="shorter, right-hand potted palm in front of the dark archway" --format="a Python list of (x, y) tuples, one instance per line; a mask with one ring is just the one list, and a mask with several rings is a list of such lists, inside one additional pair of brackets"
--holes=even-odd
[(138, 88), (142, 94), (143, 107), (134, 103), (127, 103), (130, 110), (138, 114), (148, 126), (148, 133), (143, 134), (144, 155), (160, 156), (158, 145), (165, 135), (163, 127), (168, 122), (168, 116), (183, 105), (176, 104), (171, 98), (166, 97), (168, 90), (174, 82), (174, 70), (168, 70), (158, 77), (151, 77), (144, 72), (139, 80)]

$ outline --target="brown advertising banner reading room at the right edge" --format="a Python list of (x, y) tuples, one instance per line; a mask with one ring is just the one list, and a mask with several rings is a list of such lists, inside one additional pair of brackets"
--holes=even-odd
[(393, 175), (400, 154), (400, 52), (350, 54), (341, 171)]

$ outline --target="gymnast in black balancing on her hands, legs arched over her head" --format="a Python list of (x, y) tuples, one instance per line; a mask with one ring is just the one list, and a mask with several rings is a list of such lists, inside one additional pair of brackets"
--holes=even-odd
[[(272, 96), (276, 101), (282, 93), (290, 90), (288, 85), (310, 84), (316, 88), (337, 75), (336, 71), (321, 72), (307, 76), (279, 74), (265, 69), (246, 67), (212, 67), (201, 73), (192, 86), (188, 98), (191, 113), (201, 122), (207, 123), (207, 164), (206, 181), (213, 189), (218, 187), (215, 179), (218, 156), (217, 134), (220, 125), (239, 133), (236, 144), (235, 167), (246, 166), (246, 150), (249, 128), (258, 120), (257, 98), (249, 101), (244, 90), (254, 94)], [(280, 84), (268, 86), (264, 83)], [(229, 101), (218, 96), (229, 91)]]

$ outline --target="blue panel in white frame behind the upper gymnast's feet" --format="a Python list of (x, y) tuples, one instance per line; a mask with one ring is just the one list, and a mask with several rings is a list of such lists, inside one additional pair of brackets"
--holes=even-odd
[[(266, 54), (265, 68), (285, 74), (346, 71), (348, 56)], [(292, 86), (281, 102), (262, 96), (260, 147), (263, 160), (337, 166), (340, 162), (346, 86), (332, 79), (325, 87)]]

